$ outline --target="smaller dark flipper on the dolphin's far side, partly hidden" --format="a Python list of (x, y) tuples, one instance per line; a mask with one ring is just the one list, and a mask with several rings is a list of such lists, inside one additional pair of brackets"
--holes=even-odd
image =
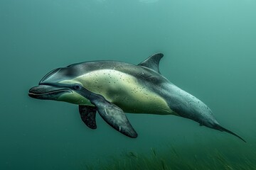
[(95, 106), (79, 106), (79, 113), (82, 121), (91, 129), (97, 128), (95, 120), (96, 111), (97, 108), (95, 108)]

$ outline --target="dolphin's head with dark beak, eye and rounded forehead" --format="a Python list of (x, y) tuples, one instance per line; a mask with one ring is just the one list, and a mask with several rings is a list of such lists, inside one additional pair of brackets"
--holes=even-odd
[(78, 80), (75, 80), (75, 77), (79, 76), (78, 67), (53, 69), (41, 79), (38, 86), (29, 90), (28, 96), (43, 100), (92, 105), (87, 98), (77, 93), (77, 89), (82, 86)]

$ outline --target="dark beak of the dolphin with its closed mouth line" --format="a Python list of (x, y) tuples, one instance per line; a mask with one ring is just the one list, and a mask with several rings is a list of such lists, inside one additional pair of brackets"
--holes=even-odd
[(28, 91), (28, 96), (39, 99), (56, 99), (61, 94), (73, 93), (70, 89), (60, 88), (56, 86), (39, 85), (34, 86)]

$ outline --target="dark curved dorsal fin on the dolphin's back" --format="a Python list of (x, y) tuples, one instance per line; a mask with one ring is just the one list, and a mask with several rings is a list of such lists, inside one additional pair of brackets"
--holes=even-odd
[(156, 53), (154, 55), (151, 55), (150, 57), (148, 57), (146, 60), (144, 60), (143, 62), (139, 63), (139, 66), (143, 66), (143, 67), (147, 67), (149, 69), (153, 69), (154, 71), (159, 72), (159, 62), (161, 60), (161, 58), (164, 57), (164, 55), (162, 53)]

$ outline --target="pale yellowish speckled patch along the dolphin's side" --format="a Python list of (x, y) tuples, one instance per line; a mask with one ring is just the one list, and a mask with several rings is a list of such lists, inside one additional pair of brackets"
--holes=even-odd
[(139, 84), (135, 77), (114, 69), (89, 72), (71, 81), (80, 82), (85, 89), (104, 96), (127, 113), (173, 113), (159, 94)]

